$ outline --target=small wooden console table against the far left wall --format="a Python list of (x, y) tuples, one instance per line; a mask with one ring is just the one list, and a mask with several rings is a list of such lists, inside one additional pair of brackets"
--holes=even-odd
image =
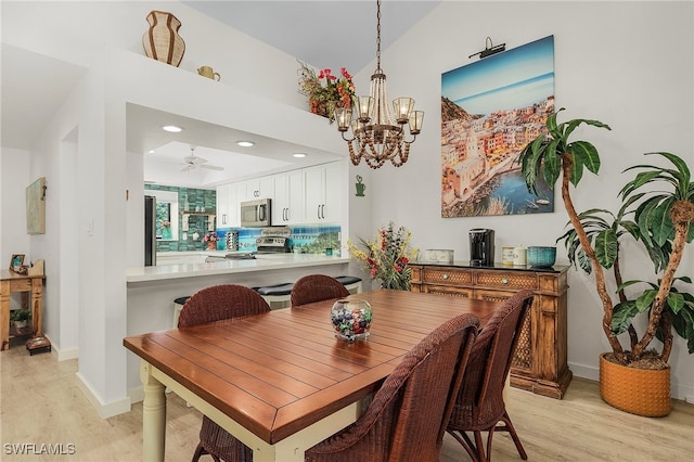
[(23, 308), (29, 305), (29, 296), (31, 294), (31, 320), (34, 324), (34, 335), (42, 336), (42, 313), (43, 313), (43, 274), (27, 275), (18, 274), (10, 270), (0, 271), (0, 338), (2, 350), (10, 348), (10, 294), (13, 292), (22, 292)]

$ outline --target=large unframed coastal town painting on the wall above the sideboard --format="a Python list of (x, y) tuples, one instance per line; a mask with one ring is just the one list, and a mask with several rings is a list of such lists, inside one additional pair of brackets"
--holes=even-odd
[(554, 211), (528, 192), (518, 153), (554, 112), (554, 36), (441, 75), (441, 217)]

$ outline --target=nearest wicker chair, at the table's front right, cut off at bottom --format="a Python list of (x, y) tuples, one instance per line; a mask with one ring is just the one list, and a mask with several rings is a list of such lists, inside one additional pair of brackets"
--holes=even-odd
[(307, 450), (305, 461), (438, 461), (478, 326), (468, 313), (437, 328), (388, 375), (364, 414)]

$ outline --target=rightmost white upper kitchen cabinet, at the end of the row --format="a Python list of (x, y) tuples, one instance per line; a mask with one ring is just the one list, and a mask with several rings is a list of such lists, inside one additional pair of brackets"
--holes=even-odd
[(342, 202), (345, 196), (343, 164), (318, 165), (304, 170), (306, 183), (306, 221), (342, 221)]

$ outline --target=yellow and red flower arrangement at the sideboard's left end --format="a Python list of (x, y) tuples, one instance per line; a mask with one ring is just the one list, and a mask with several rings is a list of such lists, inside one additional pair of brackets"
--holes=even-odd
[(412, 233), (404, 227), (397, 227), (393, 221), (378, 230), (373, 242), (360, 238), (365, 247), (362, 251), (351, 242), (347, 242), (349, 253), (365, 264), (371, 279), (381, 281), (383, 288), (410, 290), (412, 269), (408, 266), (415, 257), (416, 249), (410, 247)]

